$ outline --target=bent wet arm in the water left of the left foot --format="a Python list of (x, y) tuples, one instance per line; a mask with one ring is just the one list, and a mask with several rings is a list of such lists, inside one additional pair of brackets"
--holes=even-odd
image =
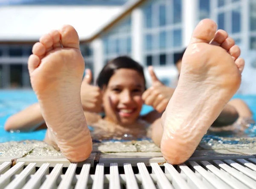
[(12, 115), (6, 120), (4, 129), (9, 131), (20, 130), (29, 131), (34, 130), (44, 124), (44, 118), (41, 114), (39, 103), (35, 103), (26, 109)]

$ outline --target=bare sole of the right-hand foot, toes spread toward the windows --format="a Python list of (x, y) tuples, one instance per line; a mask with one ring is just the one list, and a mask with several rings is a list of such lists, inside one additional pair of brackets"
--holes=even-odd
[(180, 79), (162, 117), (161, 152), (172, 164), (188, 160), (239, 89), (244, 59), (226, 31), (202, 20), (183, 56)]

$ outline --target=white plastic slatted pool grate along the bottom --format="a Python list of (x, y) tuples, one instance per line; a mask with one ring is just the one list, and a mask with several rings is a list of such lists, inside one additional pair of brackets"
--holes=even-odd
[(0, 189), (255, 189), (256, 158), (164, 163), (0, 164)]

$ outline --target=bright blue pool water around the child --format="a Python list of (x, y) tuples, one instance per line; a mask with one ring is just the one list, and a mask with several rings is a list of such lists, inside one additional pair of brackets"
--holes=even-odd
[[(256, 95), (235, 95), (233, 98), (243, 99), (253, 112), (254, 120), (256, 120)], [(0, 90), (0, 143), (8, 141), (20, 141), (20, 140), (43, 140), (46, 130), (34, 131), (34, 132), (6, 132), (4, 123), (7, 118), (32, 103), (36, 103), (37, 98), (32, 90)], [(143, 106), (141, 114), (144, 115), (151, 112), (153, 108), (151, 106)], [(256, 137), (255, 126), (248, 128), (245, 133), (250, 137)], [(230, 136), (230, 135), (229, 135)], [(207, 138), (214, 138), (218, 136), (206, 136)], [(217, 140), (217, 139), (216, 139)]]

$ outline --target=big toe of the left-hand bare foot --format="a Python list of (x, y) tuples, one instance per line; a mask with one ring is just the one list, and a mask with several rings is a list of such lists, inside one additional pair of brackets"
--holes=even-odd
[(60, 29), (60, 34), (63, 47), (79, 49), (79, 37), (73, 26), (62, 26)]

